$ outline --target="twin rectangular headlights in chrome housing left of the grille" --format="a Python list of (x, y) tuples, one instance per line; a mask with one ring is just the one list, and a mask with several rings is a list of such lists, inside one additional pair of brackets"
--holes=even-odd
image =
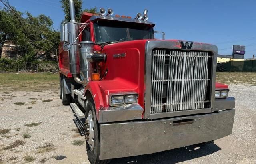
[(138, 93), (120, 93), (109, 95), (109, 105), (117, 106), (123, 104), (132, 104), (138, 102)]

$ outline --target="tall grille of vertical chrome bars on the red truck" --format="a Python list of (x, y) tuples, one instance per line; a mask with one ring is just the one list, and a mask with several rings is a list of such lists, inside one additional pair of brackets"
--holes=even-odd
[(151, 113), (203, 109), (210, 85), (210, 53), (152, 51)]

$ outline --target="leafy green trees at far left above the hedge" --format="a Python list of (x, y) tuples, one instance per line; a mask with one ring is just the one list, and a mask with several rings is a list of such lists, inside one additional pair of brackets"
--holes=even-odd
[(52, 28), (52, 20), (40, 14), (32, 16), (10, 6), (8, 0), (0, 0), (0, 48), (6, 39), (12, 40), (26, 62), (35, 60), (36, 55), (51, 60), (58, 48), (60, 32)]

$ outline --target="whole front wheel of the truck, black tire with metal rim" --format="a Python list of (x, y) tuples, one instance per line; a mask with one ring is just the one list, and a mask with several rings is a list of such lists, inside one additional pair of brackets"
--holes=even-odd
[(100, 160), (99, 124), (96, 119), (95, 107), (92, 99), (88, 100), (85, 112), (85, 136), (88, 160), (91, 164), (106, 164), (110, 160)]

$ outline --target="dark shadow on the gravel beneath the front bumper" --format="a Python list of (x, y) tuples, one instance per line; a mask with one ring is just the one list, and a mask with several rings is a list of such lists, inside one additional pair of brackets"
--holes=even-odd
[(221, 148), (214, 143), (200, 147), (198, 147), (198, 145), (192, 145), (154, 154), (116, 158), (112, 159), (110, 164), (174, 164), (202, 156), (207, 156), (219, 150), (221, 150)]

